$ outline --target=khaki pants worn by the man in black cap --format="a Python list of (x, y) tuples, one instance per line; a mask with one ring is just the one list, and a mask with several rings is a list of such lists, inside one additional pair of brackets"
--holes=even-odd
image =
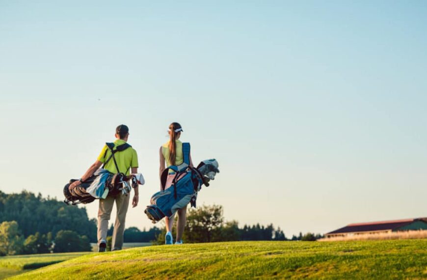
[(117, 216), (114, 224), (113, 240), (111, 250), (121, 250), (123, 247), (123, 234), (125, 232), (126, 213), (128, 212), (129, 196), (119, 193), (116, 196), (107, 196), (106, 199), (99, 200), (98, 210), (98, 244), (101, 240), (107, 239), (108, 221), (116, 201)]

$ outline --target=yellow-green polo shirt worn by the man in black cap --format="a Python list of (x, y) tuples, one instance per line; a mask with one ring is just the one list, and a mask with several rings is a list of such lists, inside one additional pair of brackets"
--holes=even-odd
[[(122, 145), (124, 143), (126, 143), (125, 140), (121, 140), (121, 139), (115, 140), (113, 150), (115, 150), (117, 146)], [(106, 154), (106, 150), (107, 150), (107, 154)], [(110, 149), (108, 149), (107, 145), (105, 145), (98, 156), (98, 160), (102, 163), (105, 163), (110, 156), (111, 156), (111, 151)], [(125, 173), (127, 170), (126, 175), (130, 174), (131, 167), (138, 167), (138, 156), (136, 155), (135, 149), (133, 149), (132, 147), (127, 148), (126, 150), (121, 152), (116, 152), (114, 154), (114, 157), (116, 159), (117, 166), (119, 167), (120, 172)], [(116, 169), (114, 160), (112, 158), (108, 161), (107, 165), (104, 168), (110, 171), (111, 173), (119, 172)]]

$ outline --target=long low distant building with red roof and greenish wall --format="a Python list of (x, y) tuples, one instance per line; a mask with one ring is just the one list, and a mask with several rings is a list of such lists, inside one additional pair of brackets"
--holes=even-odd
[(373, 234), (404, 230), (427, 230), (427, 218), (349, 224), (325, 234), (325, 237)]

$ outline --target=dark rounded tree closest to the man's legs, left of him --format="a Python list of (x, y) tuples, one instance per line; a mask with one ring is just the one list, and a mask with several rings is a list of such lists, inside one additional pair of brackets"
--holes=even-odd
[(92, 251), (87, 236), (79, 236), (75, 231), (60, 230), (55, 236), (53, 252)]

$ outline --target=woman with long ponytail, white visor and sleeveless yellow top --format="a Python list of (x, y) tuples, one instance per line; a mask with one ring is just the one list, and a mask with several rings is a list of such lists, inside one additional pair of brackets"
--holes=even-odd
[[(181, 137), (181, 132), (183, 129), (181, 125), (177, 122), (173, 122), (169, 125), (169, 141), (164, 143), (160, 147), (160, 176), (166, 166), (171, 165), (181, 165), (184, 163), (183, 155), (183, 143), (179, 140)], [(190, 159), (190, 167), (193, 167), (193, 163)], [(165, 165), (166, 162), (166, 165)], [(175, 172), (169, 170), (169, 175), (167, 176), (165, 189), (169, 188), (172, 185), (172, 180), (175, 177)], [(184, 233), (184, 228), (186, 226), (186, 215), (187, 215), (187, 206), (178, 209), (178, 223), (177, 223), (177, 234), (175, 244), (183, 244), (182, 237)], [(166, 235), (165, 235), (165, 244), (173, 244), (172, 241), (172, 226), (174, 216), (171, 218), (165, 217), (166, 220)]]

